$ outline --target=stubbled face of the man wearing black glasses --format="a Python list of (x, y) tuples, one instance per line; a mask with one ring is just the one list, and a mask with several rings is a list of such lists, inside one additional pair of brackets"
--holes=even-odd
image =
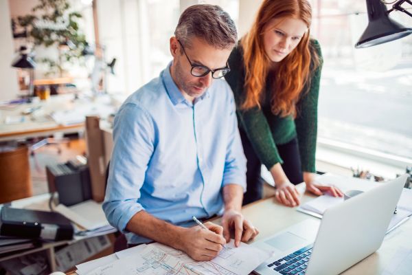
[[(213, 78), (211, 77), (211, 72), (206, 76), (192, 76), (192, 65), (203, 65), (212, 70), (226, 67), (232, 48), (216, 49), (203, 39), (198, 38), (192, 39), (191, 44), (191, 47), (183, 45), (187, 54), (186, 57), (181, 48), (182, 45), (177, 41), (176, 37), (170, 39), (170, 52), (172, 52), (173, 56), (172, 78), (183, 96), (187, 100), (193, 101), (205, 93), (206, 89), (211, 85)], [(187, 58), (190, 59), (192, 65), (190, 65)]]

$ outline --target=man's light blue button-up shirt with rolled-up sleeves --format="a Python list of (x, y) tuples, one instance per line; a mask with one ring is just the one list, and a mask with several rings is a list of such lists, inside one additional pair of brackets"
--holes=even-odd
[(149, 239), (127, 232), (141, 210), (181, 226), (221, 214), (222, 187), (246, 190), (236, 107), (229, 85), (214, 80), (205, 94), (185, 100), (170, 65), (122, 104), (115, 117), (103, 210), (128, 243)]

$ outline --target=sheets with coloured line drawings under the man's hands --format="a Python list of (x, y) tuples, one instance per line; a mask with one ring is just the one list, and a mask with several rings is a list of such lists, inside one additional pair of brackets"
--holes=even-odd
[(246, 243), (239, 248), (234, 241), (211, 261), (194, 261), (187, 254), (160, 243), (146, 245), (144, 250), (123, 254), (124, 258), (102, 265), (89, 275), (240, 275), (249, 274), (271, 256), (271, 252), (260, 250)]

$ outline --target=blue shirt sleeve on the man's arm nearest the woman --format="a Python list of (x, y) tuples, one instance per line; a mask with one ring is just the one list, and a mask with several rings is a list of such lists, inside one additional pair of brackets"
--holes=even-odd
[(239, 184), (246, 192), (246, 157), (244, 157), (242, 142), (238, 130), (236, 118), (236, 104), (229, 85), (229, 128), (227, 151), (225, 157), (225, 170), (223, 173), (222, 186), (226, 184)]

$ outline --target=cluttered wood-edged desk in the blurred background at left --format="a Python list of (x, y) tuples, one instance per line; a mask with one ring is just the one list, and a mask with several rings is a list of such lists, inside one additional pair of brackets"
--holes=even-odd
[[(81, 98), (74, 100), (73, 94), (51, 96), (49, 100), (18, 104), (13, 108), (0, 107), (0, 142), (27, 137), (41, 137), (53, 133), (77, 133), (84, 131), (85, 115), (106, 117), (115, 111), (110, 96), (97, 99)], [(36, 98), (37, 99), (37, 98)], [(22, 115), (30, 108), (38, 108), (30, 115)], [(74, 115), (73, 120), (56, 120), (52, 113), (60, 113), (60, 118)], [(66, 112), (67, 117), (64, 116)], [(23, 122), (7, 123), (10, 119), (22, 118)], [(83, 118), (83, 120), (82, 120)], [(67, 122), (67, 123), (66, 123)]]

